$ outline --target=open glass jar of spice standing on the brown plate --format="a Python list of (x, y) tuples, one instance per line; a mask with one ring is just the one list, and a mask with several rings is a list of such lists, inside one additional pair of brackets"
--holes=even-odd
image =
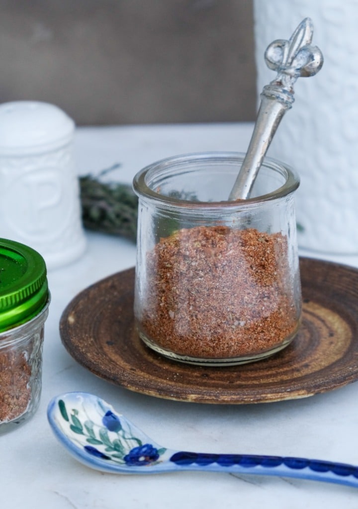
[(134, 314), (144, 343), (171, 359), (263, 359), (296, 335), (302, 297), (296, 173), (266, 158), (248, 200), (227, 201), (244, 154), (151, 164), (139, 196)]

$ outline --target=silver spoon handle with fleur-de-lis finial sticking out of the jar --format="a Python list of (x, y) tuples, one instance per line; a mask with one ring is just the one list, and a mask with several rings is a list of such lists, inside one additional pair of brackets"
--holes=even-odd
[(277, 76), (264, 87), (261, 94), (261, 105), (250, 144), (229, 200), (249, 197), (276, 129), (295, 100), (296, 80), (300, 76), (313, 76), (322, 67), (323, 55), (317, 46), (311, 46), (312, 36), (312, 21), (305, 18), (288, 41), (273, 41), (266, 49), (266, 65), (277, 71)]

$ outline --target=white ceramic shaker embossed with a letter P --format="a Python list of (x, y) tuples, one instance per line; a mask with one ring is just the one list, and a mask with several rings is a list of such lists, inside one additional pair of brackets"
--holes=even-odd
[(37, 250), (48, 269), (76, 260), (86, 245), (74, 131), (52, 104), (0, 105), (0, 237)]

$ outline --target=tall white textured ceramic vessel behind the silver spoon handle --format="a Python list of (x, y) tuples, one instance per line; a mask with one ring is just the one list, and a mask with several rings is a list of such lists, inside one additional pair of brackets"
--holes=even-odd
[(321, 253), (358, 253), (358, 2), (254, 0), (257, 92), (275, 77), (267, 46), (288, 39), (310, 17), (321, 71), (299, 78), (295, 103), (268, 155), (295, 167), (299, 246)]

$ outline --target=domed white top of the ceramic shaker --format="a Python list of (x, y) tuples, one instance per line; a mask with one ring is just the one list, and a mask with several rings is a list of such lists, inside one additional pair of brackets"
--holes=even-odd
[(0, 104), (0, 154), (34, 154), (68, 143), (74, 121), (46, 102), (13, 101)]

